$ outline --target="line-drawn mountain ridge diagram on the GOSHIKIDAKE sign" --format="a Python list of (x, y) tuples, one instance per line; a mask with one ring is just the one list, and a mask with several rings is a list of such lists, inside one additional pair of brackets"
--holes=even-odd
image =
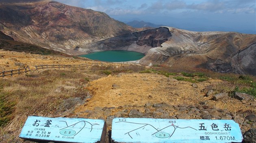
[(192, 128), (190, 126), (187, 127), (179, 127), (174, 124), (171, 124), (169, 126), (165, 126), (163, 128), (158, 128), (155, 126), (152, 126), (151, 124), (143, 124), (143, 123), (136, 123), (136, 122), (126, 122), (126, 121), (119, 121), (115, 123), (123, 123), (126, 124), (126, 126), (134, 126), (134, 129), (130, 130), (129, 132), (124, 133), (124, 135), (129, 135), (130, 138), (133, 139), (133, 137), (145, 137), (145, 135), (151, 135), (156, 136), (158, 138), (168, 138), (174, 135), (174, 132), (176, 129), (189, 129), (189, 130), (197, 130), (195, 128)]

